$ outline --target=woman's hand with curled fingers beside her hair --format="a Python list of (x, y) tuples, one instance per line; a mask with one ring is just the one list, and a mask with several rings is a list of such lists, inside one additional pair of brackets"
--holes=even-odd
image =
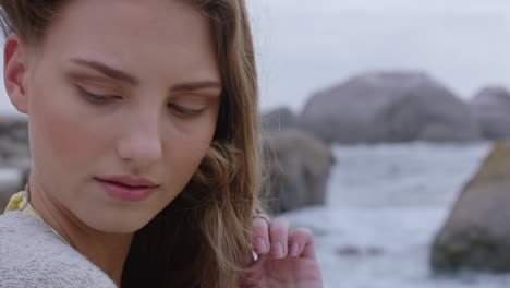
[(269, 225), (254, 217), (252, 248), (258, 259), (243, 275), (242, 288), (323, 287), (309, 229), (291, 231), (287, 218), (276, 218)]

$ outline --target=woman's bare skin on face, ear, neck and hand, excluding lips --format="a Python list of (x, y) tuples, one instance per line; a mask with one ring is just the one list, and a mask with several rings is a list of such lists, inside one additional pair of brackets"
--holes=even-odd
[[(4, 47), (8, 95), (29, 116), (31, 204), (120, 287), (134, 232), (182, 191), (212, 140), (214, 40), (207, 19), (180, 1), (72, 1), (59, 15), (37, 47), (15, 34)], [(109, 175), (158, 188), (119, 201), (95, 180)], [(255, 218), (253, 235), (259, 259), (243, 287), (321, 287), (308, 230)]]

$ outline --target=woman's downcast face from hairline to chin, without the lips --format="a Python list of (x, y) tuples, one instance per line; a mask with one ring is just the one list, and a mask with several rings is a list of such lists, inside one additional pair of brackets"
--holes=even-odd
[[(172, 0), (72, 1), (27, 62), (34, 177), (52, 205), (132, 232), (185, 187), (212, 139), (221, 93), (206, 16)], [(111, 196), (97, 178), (158, 188)]]

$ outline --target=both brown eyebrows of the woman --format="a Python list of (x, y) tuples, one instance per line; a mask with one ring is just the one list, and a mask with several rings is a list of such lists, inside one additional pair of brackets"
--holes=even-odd
[[(136, 86), (139, 83), (139, 81), (135, 76), (130, 75), (129, 73), (125, 73), (121, 70), (114, 69), (112, 67), (109, 67), (98, 61), (85, 60), (85, 59), (78, 59), (78, 58), (72, 59), (71, 61), (76, 64), (85, 65), (94, 70), (97, 70), (110, 79), (127, 82), (133, 86)], [(221, 83), (217, 81), (196, 81), (196, 82), (187, 82), (187, 83), (180, 83), (180, 84), (173, 85), (171, 87), (171, 91), (196, 91), (196, 89), (221, 88), (221, 87), (222, 87)]]

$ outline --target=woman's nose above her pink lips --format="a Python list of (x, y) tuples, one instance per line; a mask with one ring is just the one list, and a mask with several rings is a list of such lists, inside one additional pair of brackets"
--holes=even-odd
[(162, 143), (156, 113), (131, 117), (118, 144), (121, 159), (135, 168), (145, 168), (162, 157)]

